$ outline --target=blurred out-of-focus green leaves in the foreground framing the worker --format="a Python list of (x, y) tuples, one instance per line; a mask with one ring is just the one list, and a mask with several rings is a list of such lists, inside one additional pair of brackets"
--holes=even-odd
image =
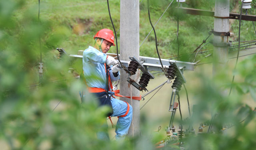
[[(52, 52), (70, 31), (65, 26), (53, 27), (50, 20), (38, 22), (38, 5), (35, 3), (24, 9), (25, 5), (24, 0), (0, 1), (1, 149), (154, 149), (154, 144), (162, 140), (164, 134), (149, 132), (150, 125), (146, 120), (142, 122), (141, 137), (129, 137), (124, 142), (97, 140), (96, 132), (106, 122), (104, 113), (107, 109), (98, 108), (88, 93), (81, 104), (78, 91), (85, 89), (85, 85), (68, 74), (69, 62), (58, 61)], [(44, 76), (38, 83), (40, 51)], [(231, 86), (225, 75), (210, 80), (208, 76), (198, 74), (202, 84), (193, 93), (198, 100), (193, 122), (210, 120), (211, 113), (218, 112), (218, 115), (213, 122), (214, 133), (185, 138), (185, 148), (255, 148), (254, 108), (242, 101), (243, 94), (248, 93), (256, 100), (255, 62), (254, 55), (238, 64), (234, 74), (244, 80), (234, 83), (231, 96), (223, 96), (221, 90)], [(227, 129), (230, 133), (220, 131), (224, 124), (233, 125)]]

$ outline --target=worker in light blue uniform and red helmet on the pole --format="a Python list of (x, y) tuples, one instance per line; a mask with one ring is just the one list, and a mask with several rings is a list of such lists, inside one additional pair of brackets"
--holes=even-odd
[(85, 81), (89, 92), (97, 97), (100, 106), (110, 107), (111, 111), (107, 116), (118, 116), (115, 130), (116, 140), (124, 139), (132, 122), (132, 106), (114, 98), (109, 92), (112, 90), (111, 82), (120, 77), (118, 62), (113, 57), (106, 55), (110, 47), (115, 46), (113, 31), (110, 29), (99, 30), (94, 36), (94, 40), (94, 47), (89, 46), (83, 53)]

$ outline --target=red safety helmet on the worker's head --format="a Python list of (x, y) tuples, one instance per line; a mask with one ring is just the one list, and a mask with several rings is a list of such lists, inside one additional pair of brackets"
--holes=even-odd
[(115, 38), (113, 31), (110, 29), (101, 29), (95, 34), (94, 39), (95, 38), (103, 38), (104, 40), (111, 42), (113, 46), (116, 46), (114, 43)]

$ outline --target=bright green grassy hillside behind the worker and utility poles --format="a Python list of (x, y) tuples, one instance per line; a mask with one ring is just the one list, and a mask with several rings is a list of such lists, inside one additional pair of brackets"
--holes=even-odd
[[(152, 29), (148, 20), (146, 2), (146, 0), (143, 0), (140, 4), (140, 44)], [(150, 13), (153, 24), (157, 22), (170, 2), (171, 0), (150, 1)], [(120, 0), (110, 0), (109, 3), (112, 19), (116, 30), (118, 30), (120, 28)], [(26, 6), (32, 6), (34, 9), (32, 11), (34, 15), (37, 15), (37, 5), (38, 2), (35, 0), (26, 1)], [(180, 54), (194, 51), (202, 43), (202, 40), (208, 36), (208, 32), (214, 28), (213, 17), (193, 16), (176, 12), (176, 6), (177, 3), (174, 1), (156, 25), (158, 49), (162, 58), (175, 59), (177, 55), (176, 14), (179, 14)], [(238, 3), (238, 0), (231, 0), (230, 6), (231, 12), (239, 12), (240, 3)], [(255, 6), (255, 3), (252, 6)], [(214, 11), (214, 0), (187, 0), (183, 4), (183, 7)], [(26, 8), (24, 8), (25, 10)], [(22, 15), (22, 12), (18, 12), (18, 15)], [(53, 41), (51, 44), (48, 44), (51, 45), (48, 46), (48, 49), (54, 50), (57, 47), (61, 47), (69, 54), (77, 54), (78, 50), (84, 50), (89, 45), (93, 45), (93, 36), (98, 30), (102, 28), (113, 30), (108, 15), (106, 0), (43, 0), (41, 1), (40, 18), (42, 20), (48, 20), (52, 24), (46, 33), (48, 35), (47, 37), (51, 38), (51, 35), (56, 33), (62, 34), (62, 42), (54, 43)], [(231, 37), (230, 40), (237, 40), (238, 20), (232, 21), (230, 32), (234, 32), (234, 37)], [(254, 39), (255, 35), (252, 22), (242, 21), (241, 33), (241, 40)], [(119, 32), (117, 36), (120, 36)], [(140, 47), (140, 56), (157, 57), (154, 39), (154, 33), (151, 32), (144, 44)], [(48, 42), (51, 42), (51, 40)], [(211, 44), (205, 46), (205, 48), (211, 47)], [(116, 53), (116, 48), (112, 47), (109, 52)], [(205, 53), (205, 55), (207, 54)], [(188, 59), (186, 55), (183, 56), (181, 58), (182, 60), (192, 61), (192, 58)], [(200, 57), (202, 56), (199, 55), (198, 58)]]

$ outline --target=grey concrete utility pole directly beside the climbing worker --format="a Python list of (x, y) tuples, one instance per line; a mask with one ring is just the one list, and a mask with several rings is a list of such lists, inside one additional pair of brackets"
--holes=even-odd
[[(129, 57), (140, 56), (140, 16), (139, 0), (120, 0), (120, 60), (130, 61)], [(120, 76), (120, 94), (123, 96), (140, 96), (139, 90), (126, 81), (128, 74), (121, 70)], [(138, 81), (139, 74), (131, 76)], [(129, 98), (120, 98), (128, 102), (133, 108), (132, 123), (128, 132), (130, 136), (136, 136), (140, 133), (140, 101)]]

